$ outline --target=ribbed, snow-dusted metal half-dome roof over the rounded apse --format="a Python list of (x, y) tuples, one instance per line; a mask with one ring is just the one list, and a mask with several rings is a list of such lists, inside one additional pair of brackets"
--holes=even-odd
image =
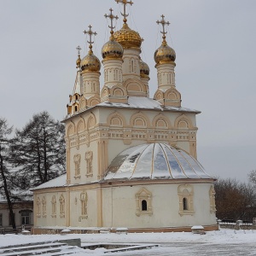
[(148, 143), (127, 148), (108, 166), (104, 180), (209, 178), (201, 164), (179, 148)]

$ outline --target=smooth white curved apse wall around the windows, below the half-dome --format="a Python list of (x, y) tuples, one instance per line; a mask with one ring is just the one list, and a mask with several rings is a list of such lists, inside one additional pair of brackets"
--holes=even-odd
[[(178, 227), (191, 225), (216, 224), (215, 214), (210, 212), (209, 189), (211, 184), (193, 184), (194, 215), (180, 216), (177, 195), (178, 184), (152, 184), (145, 186), (113, 188), (103, 190), (103, 225), (107, 227)], [(145, 188), (152, 193), (153, 214), (136, 215), (135, 195), (139, 189)], [(113, 206), (113, 214), (112, 212)], [(112, 216), (110, 218), (109, 216)]]

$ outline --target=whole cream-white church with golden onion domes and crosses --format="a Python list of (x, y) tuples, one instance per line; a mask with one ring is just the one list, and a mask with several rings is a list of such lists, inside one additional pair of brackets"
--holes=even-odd
[(67, 104), (67, 174), (34, 193), (35, 234), (97, 232), (125, 227), (129, 232), (190, 231), (194, 225), (218, 230), (215, 178), (196, 160), (196, 114), (183, 108), (176, 89), (176, 54), (166, 42), (154, 52), (158, 89), (149, 97), (149, 68), (142, 61), (143, 39), (127, 25), (102, 46), (77, 60), (77, 77)]

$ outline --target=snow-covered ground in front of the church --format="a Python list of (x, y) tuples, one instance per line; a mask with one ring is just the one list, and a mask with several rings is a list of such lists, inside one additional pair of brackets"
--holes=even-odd
[[(91, 243), (150, 243), (160, 244), (151, 249), (111, 253), (111, 255), (256, 255), (256, 230), (219, 230), (195, 235), (189, 232), (84, 234), (84, 235), (0, 235), (0, 247), (36, 241), (80, 238), (82, 244)], [(74, 255), (103, 255), (105, 249), (81, 250)], [(65, 252), (63, 252), (63, 255)], [(106, 254), (105, 254), (106, 255)]]

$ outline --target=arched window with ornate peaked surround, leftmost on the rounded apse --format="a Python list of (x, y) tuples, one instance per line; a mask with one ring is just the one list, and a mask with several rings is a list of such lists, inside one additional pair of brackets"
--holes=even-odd
[(152, 212), (152, 194), (148, 189), (140, 189), (136, 197), (136, 215), (139, 217), (142, 214), (147, 214), (151, 216)]

